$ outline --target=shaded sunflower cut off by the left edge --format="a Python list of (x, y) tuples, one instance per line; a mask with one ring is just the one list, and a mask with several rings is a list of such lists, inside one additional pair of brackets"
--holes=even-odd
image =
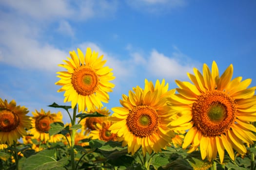
[(14, 100), (8, 104), (0, 98), (0, 144), (11, 145), (27, 134), (26, 130), (31, 128), (28, 112), (24, 106), (16, 106)]

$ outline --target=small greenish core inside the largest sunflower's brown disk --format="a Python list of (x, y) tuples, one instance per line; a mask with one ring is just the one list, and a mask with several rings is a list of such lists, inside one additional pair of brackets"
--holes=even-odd
[(227, 117), (227, 108), (225, 105), (214, 102), (210, 106), (208, 117), (212, 122), (219, 123)]

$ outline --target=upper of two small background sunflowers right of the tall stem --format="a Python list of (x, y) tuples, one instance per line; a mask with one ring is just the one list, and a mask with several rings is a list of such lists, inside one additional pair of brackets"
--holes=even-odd
[[(96, 108), (95, 106), (90, 110), (90, 112), (86, 111), (86, 114), (92, 114), (98, 112), (101, 115), (108, 116), (110, 115), (109, 110), (104, 108)], [(103, 121), (106, 120), (106, 117), (87, 117), (80, 121), (80, 124), (82, 125), (82, 131), (87, 135), (92, 130), (96, 130), (96, 124), (101, 124)]]

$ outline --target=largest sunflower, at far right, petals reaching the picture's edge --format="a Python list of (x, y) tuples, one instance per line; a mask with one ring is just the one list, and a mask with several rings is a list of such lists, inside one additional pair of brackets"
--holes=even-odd
[[(172, 108), (181, 117), (170, 124), (178, 129), (189, 129), (182, 148), (190, 146), (193, 152), (200, 149), (202, 159), (217, 157), (223, 162), (224, 150), (234, 160), (234, 150), (244, 155), (245, 143), (256, 141), (256, 87), (247, 88), (251, 79), (232, 79), (233, 65), (219, 77), (214, 61), (212, 70), (203, 65), (203, 74), (194, 68), (195, 75), (188, 73), (189, 82), (176, 81), (179, 88), (170, 100)], [(253, 132), (252, 132), (253, 131)]]

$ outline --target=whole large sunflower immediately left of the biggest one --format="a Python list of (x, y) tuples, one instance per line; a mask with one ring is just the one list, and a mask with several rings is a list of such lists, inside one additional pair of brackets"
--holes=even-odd
[(175, 137), (168, 127), (172, 113), (167, 104), (175, 90), (168, 90), (164, 80), (161, 84), (157, 80), (156, 87), (145, 80), (144, 89), (137, 86), (133, 90), (129, 96), (122, 95), (123, 107), (112, 108), (114, 114), (109, 120), (115, 123), (109, 130), (123, 140), (123, 146), (128, 145), (128, 153), (134, 154), (140, 147), (143, 155), (160, 152)]

